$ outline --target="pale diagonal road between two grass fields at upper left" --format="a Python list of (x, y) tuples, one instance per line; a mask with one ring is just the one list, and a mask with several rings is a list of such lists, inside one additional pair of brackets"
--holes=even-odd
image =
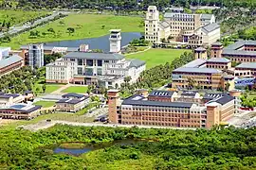
[(5, 34), (12, 35), (12, 34), (20, 32), (20, 31), (23, 31), (27, 28), (30, 28), (30, 27), (33, 27), (33, 26), (38, 26), (39, 24), (41, 24), (43, 22), (46, 22), (48, 20), (52, 20), (54, 17), (58, 16), (60, 13), (68, 14), (69, 12), (53, 12), (51, 15), (46, 16), (45, 18), (41, 18), (41, 19), (36, 20), (32, 25), (31, 25), (31, 23), (26, 23), (23, 26), (11, 26), (9, 28), (8, 32), (1, 32), (0, 33), (0, 38), (4, 37)]

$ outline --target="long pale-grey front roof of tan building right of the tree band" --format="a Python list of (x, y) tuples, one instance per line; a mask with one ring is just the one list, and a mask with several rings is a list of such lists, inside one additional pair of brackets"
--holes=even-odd
[(175, 69), (173, 72), (185, 72), (185, 73), (198, 73), (198, 74), (219, 74), (222, 73), (220, 70), (213, 68), (192, 68), (192, 67), (180, 67)]

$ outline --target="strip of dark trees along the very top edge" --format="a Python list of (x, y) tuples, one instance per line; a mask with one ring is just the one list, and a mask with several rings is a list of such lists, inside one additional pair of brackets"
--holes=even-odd
[[(139, 2), (139, 3), (137, 3)], [(189, 8), (192, 6), (218, 6), (218, 7), (245, 7), (249, 8), (255, 5), (253, 0), (104, 0), (104, 1), (88, 1), (88, 0), (64, 0), (64, 1), (51, 1), (51, 0), (1, 0), (0, 8), (116, 8), (116, 9), (145, 9), (149, 5), (157, 5), (159, 8), (166, 8), (170, 5)]]

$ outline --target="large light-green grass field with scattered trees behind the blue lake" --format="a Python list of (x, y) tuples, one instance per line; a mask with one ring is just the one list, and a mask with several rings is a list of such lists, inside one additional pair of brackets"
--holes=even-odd
[[(37, 27), (40, 37), (29, 39), (29, 31), (11, 39), (8, 45), (14, 49), (30, 42), (54, 42), (64, 40), (78, 40), (82, 38), (100, 37), (109, 33), (109, 29), (120, 28), (122, 32), (142, 32), (143, 26), (139, 26), (142, 18), (129, 16), (98, 15), (98, 14), (70, 14), (64, 19)], [(75, 29), (74, 33), (68, 33), (67, 28)], [(53, 28), (54, 32), (47, 31)]]

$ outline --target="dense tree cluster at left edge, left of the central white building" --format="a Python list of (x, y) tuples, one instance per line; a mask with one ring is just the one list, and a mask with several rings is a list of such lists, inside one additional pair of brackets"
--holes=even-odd
[[(11, 72), (9, 75), (1, 76), (0, 92), (23, 93), (33, 90), (36, 83), (45, 82), (46, 68), (31, 70), (31, 67), (24, 66), (19, 70)], [(39, 91), (36, 89), (36, 91)]]

